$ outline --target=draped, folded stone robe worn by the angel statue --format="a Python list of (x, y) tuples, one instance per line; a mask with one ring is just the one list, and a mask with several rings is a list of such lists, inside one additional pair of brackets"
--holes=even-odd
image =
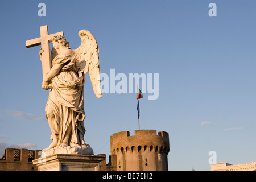
[(46, 104), (46, 113), (52, 112), (55, 117), (52, 121), (51, 139), (53, 135), (58, 136), (57, 145), (61, 145), (64, 139), (70, 146), (85, 145), (85, 75), (77, 70), (75, 61), (71, 49), (65, 49), (52, 60), (52, 65), (63, 65), (59, 73), (51, 80), (52, 89)]

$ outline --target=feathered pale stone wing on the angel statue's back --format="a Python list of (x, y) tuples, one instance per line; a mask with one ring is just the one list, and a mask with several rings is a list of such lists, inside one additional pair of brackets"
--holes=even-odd
[(101, 98), (100, 62), (98, 57), (98, 43), (88, 30), (80, 30), (81, 45), (73, 50), (76, 56), (76, 67), (85, 74), (89, 72), (93, 91)]

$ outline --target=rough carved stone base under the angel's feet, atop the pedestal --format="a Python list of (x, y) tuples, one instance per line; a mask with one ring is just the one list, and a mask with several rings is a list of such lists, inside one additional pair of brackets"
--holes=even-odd
[(53, 154), (81, 154), (81, 155), (93, 155), (93, 149), (89, 144), (86, 146), (57, 146), (49, 150), (43, 151), (42, 158)]

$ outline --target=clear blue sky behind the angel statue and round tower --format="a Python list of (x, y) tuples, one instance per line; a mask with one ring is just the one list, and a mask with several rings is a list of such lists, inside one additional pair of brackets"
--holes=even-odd
[[(46, 4), (46, 17), (38, 4)], [(209, 3), (217, 16), (210, 17)], [(1, 1), (0, 155), (6, 147), (43, 149), (51, 143), (44, 117), (40, 46), (25, 41), (63, 31), (92, 32), (101, 73), (158, 73), (159, 97), (140, 100), (141, 129), (170, 135), (170, 170), (210, 170), (217, 162), (256, 160), (256, 1)], [(117, 84), (118, 81), (115, 81)], [(142, 92), (145, 92), (142, 90)], [(110, 155), (110, 135), (138, 129), (136, 93), (104, 93), (85, 81), (85, 142)]]

